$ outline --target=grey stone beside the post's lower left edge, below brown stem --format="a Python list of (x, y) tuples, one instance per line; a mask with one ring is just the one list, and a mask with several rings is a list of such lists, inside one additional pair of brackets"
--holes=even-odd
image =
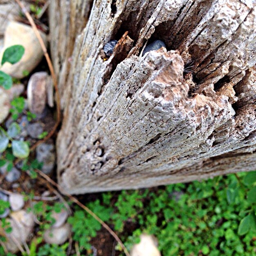
[(42, 171), (45, 174), (52, 172), (55, 165), (55, 150), (53, 144), (42, 143), (36, 147), (36, 159), (43, 162)]

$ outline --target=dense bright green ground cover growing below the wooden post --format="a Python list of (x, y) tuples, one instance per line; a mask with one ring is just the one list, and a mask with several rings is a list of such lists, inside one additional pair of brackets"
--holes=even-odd
[[(255, 181), (256, 172), (251, 172), (154, 189), (107, 192), (86, 206), (116, 231), (128, 249), (145, 232), (157, 237), (162, 256), (255, 256)], [(90, 255), (90, 239), (101, 226), (78, 207), (68, 222), (81, 256)], [(67, 245), (42, 244), (37, 250), (40, 255), (65, 256)]]

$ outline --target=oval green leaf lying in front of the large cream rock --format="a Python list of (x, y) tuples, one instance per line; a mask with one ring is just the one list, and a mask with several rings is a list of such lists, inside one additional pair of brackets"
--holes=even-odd
[(12, 45), (5, 49), (3, 57), (2, 57), (2, 65), (5, 62), (9, 62), (11, 64), (15, 64), (22, 58), (25, 52), (25, 48), (22, 45)]

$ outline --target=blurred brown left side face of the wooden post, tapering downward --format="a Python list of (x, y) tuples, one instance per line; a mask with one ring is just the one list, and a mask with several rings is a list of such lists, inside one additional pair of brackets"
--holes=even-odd
[(51, 54), (58, 77), (61, 107), (65, 106), (67, 76), (72, 63), (72, 52), (76, 36), (88, 22), (92, 0), (51, 0), (49, 5), (49, 27)]

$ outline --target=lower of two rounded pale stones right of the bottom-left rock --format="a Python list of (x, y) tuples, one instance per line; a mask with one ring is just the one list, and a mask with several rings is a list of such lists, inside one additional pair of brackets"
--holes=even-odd
[(43, 237), (46, 243), (61, 245), (67, 240), (70, 231), (70, 224), (66, 223), (58, 228), (47, 229)]

